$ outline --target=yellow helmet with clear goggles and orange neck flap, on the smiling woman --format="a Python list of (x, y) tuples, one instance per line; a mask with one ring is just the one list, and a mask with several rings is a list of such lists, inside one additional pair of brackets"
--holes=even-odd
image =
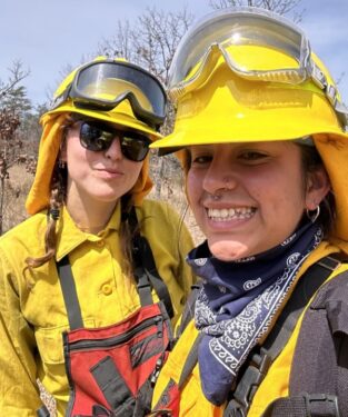
[(299, 28), (256, 8), (208, 14), (178, 47), (169, 96), (173, 132), (151, 145), (162, 155), (192, 145), (314, 138), (334, 189), (336, 236), (348, 240), (348, 111)]

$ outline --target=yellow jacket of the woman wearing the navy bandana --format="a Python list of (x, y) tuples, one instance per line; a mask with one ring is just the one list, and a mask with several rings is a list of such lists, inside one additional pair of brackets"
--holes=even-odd
[[(330, 245), (328, 242), (321, 242), (319, 247), (304, 262), (297, 279), (301, 279), (301, 276), (308, 269), (308, 267), (315, 264), (317, 260), (330, 254), (338, 252), (340, 251), (340, 249), (347, 254), (347, 242), (338, 242), (337, 246)], [(348, 270), (348, 265), (341, 264), (341, 266), (330, 275), (328, 280), (335, 279), (338, 274), (346, 270)], [(248, 417), (260, 417), (266, 410), (267, 406), (276, 398), (288, 396), (291, 363), (302, 317), (304, 312), (300, 316), (297, 326), (284, 350), (272, 363), (266, 378), (256, 391), (248, 413)], [(193, 320), (191, 320), (185, 329), (183, 334), (180, 336), (173, 350), (169, 354), (169, 358), (160, 371), (152, 398), (153, 408), (158, 404), (163, 393), (166, 393), (165, 397), (162, 397), (166, 398), (165, 403), (168, 398), (170, 398), (170, 395), (168, 395), (168, 390), (166, 390), (166, 388), (171, 386), (171, 384), (169, 384), (170, 379), (175, 384), (179, 383), (183, 365), (186, 364), (188, 354), (191, 350), (197, 336), (198, 330), (195, 327)], [(213, 373), (213, 369), (211, 369), (211, 373)], [(170, 400), (172, 400), (172, 398), (170, 398)], [(160, 401), (160, 404), (161, 403), (162, 401)], [(180, 417), (222, 417), (225, 410), (225, 405), (221, 407), (213, 406), (205, 397), (200, 385), (198, 365), (196, 365), (196, 367), (187, 378), (186, 384), (182, 386), (179, 404)]]

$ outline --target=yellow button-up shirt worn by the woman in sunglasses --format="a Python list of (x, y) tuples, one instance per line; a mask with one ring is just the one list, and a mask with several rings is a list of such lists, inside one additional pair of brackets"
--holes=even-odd
[[(178, 316), (192, 285), (185, 261), (191, 238), (165, 203), (143, 201), (137, 217)], [(98, 236), (79, 230), (62, 210), (57, 260), (69, 254), (84, 327), (116, 324), (140, 307), (133, 282), (120, 268), (119, 226), (119, 207)], [(42, 405), (37, 378), (54, 396), (59, 416), (68, 401), (61, 334), (69, 326), (56, 262), (23, 276), (26, 258), (44, 254), (46, 229), (47, 216), (40, 212), (0, 239), (0, 416), (36, 416)]]

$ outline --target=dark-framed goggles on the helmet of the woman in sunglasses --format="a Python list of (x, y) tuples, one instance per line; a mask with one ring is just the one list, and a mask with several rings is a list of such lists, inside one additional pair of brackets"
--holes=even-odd
[(159, 80), (126, 61), (98, 60), (80, 67), (51, 110), (68, 98), (77, 108), (110, 111), (128, 100), (135, 116), (158, 129), (166, 117), (167, 96)]

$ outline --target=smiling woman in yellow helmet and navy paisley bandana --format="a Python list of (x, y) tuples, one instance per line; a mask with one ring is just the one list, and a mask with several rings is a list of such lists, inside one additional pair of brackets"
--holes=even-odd
[(169, 93), (153, 147), (179, 152), (207, 239), (153, 409), (348, 416), (348, 111), (328, 70), (288, 20), (223, 9), (182, 39)]

